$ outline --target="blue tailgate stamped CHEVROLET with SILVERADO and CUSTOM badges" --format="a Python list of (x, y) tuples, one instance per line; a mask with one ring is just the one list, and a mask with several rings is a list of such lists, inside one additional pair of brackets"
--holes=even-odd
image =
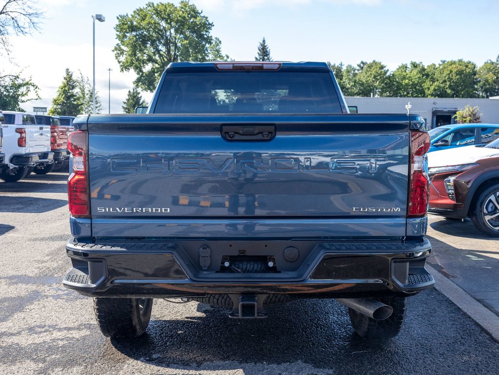
[[(92, 116), (86, 126), (92, 236), (405, 235), (407, 116)], [(230, 139), (231, 126), (274, 133)]]

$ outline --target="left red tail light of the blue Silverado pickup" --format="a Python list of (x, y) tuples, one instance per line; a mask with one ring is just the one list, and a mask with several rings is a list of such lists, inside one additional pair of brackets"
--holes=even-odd
[(88, 133), (73, 131), (68, 134), (67, 148), (71, 153), (73, 170), (67, 181), (69, 212), (73, 217), (90, 217), (90, 198), (88, 195), (87, 147)]

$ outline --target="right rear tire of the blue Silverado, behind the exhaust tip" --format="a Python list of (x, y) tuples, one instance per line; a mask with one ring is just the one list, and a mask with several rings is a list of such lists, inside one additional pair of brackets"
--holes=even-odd
[(348, 308), (352, 327), (360, 337), (386, 341), (400, 332), (407, 309), (407, 297), (377, 298), (393, 309), (392, 315), (384, 320), (375, 320)]

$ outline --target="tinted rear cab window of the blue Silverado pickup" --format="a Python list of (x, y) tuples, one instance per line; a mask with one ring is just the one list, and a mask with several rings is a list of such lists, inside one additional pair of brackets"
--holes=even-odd
[(327, 72), (167, 73), (154, 113), (342, 113)]

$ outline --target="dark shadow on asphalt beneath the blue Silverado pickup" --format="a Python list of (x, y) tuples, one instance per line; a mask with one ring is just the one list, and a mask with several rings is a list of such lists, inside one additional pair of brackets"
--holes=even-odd
[[(432, 305), (439, 308), (434, 310)], [(483, 345), (489, 340), (487, 335), (467, 323), (466, 316), (435, 290), (411, 297), (402, 332), (388, 343), (357, 337), (346, 308), (332, 300), (274, 306), (268, 309), (267, 319), (258, 320), (232, 320), (227, 310), (201, 306), (205, 316), (182, 320), (160, 317), (152, 320), (146, 334), (138, 339), (112, 339), (112, 346), (104, 347), (103, 359), (115, 356), (114, 348), (137, 361), (186, 374), (195, 373), (193, 369), (242, 369), (246, 375), (441, 374), (443, 368), (448, 374), (457, 374), (463, 363), (456, 358), (466, 359), (465, 368), (481, 366), (481, 374), (493, 370), (477, 362), (478, 358), (470, 360), (478, 348), (455, 344), (468, 337)], [(156, 304), (156, 308), (160, 306)], [(282, 366), (290, 366), (289, 372), (282, 371)]]

